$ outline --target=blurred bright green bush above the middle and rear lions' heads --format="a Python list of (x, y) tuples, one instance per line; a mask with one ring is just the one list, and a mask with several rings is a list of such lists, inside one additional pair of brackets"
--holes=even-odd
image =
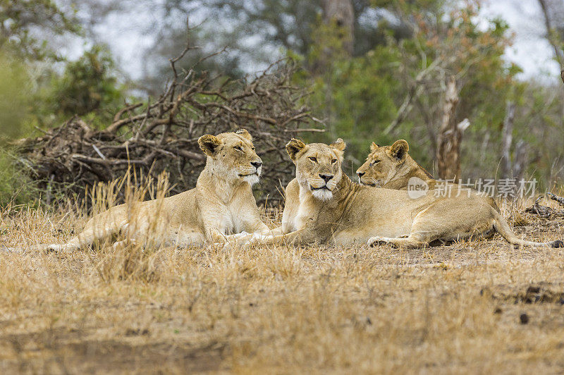
[(312, 105), (327, 122), (325, 141), (347, 140), (349, 159), (364, 159), (364, 144), (375, 139), (377, 130), (390, 123), (397, 111), (393, 77), (397, 58), (392, 49), (377, 47), (365, 56), (335, 60), (327, 73), (309, 78)]

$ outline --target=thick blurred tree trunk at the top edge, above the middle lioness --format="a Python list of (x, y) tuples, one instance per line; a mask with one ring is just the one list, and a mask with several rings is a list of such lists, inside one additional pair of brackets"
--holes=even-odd
[(353, 54), (355, 42), (355, 9), (351, 0), (324, 0), (323, 13), (325, 23), (335, 23), (339, 28), (339, 37), (343, 41), (343, 49)]

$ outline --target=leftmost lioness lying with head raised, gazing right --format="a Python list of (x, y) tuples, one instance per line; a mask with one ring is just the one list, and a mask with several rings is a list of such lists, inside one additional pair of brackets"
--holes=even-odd
[[(128, 212), (128, 205), (112, 207), (94, 216), (82, 233), (49, 250), (75, 250), (115, 235), (143, 239), (154, 221), (164, 230), (162, 242), (170, 245), (202, 245), (230, 233), (266, 233), (251, 185), (259, 181), (262, 160), (255, 152), (247, 130), (219, 135), (202, 135), (200, 149), (207, 155), (206, 166), (192, 190), (178, 195), (140, 202)], [(129, 214), (136, 215), (135, 228)]]

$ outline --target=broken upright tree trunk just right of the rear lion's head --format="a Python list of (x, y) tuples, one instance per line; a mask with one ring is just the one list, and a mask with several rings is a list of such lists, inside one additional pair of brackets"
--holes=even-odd
[(439, 177), (443, 179), (460, 178), (460, 141), (462, 129), (458, 128), (455, 121), (456, 105), (458, 104), (458, 91), (454, 76), (446, 82), (445, 102), (443, 105), (443, 121), (437, 140), (437, 164)]

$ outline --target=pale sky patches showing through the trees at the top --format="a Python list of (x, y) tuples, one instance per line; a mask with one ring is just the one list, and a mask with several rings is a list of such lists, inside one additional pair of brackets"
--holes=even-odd
[[(155, 22), (156, 16), (151, 12), (138, 12), (135, 18), (123, 19), (123, 16), (114, 13), (95, 29), (97, 41), (109, 45), (117, 65), (123, 67), (132, 79), (143, 75), (143, 61), (153, 43), (153, 36), (147, 33), (145, 27)], [(560, 79), (560, 68), (553, 60), (553, 50), (543, 37), (544, 22), (538, 1), (485, 0), (480, 15), (484, 26), (486, 20), (497, 16), (503, 18), (510, 26), (510, 32), (514, 33), (513, 46), (505, 51), (505, 59), (523, 69), (518, 78), (534, 78), (543, 82)], [(63, 49), (67, 56), (76, 59), (87, 47), (82, 40), (76, 39)], [(251, 65), (247, 70), (253, 73), (265, 67)]]

